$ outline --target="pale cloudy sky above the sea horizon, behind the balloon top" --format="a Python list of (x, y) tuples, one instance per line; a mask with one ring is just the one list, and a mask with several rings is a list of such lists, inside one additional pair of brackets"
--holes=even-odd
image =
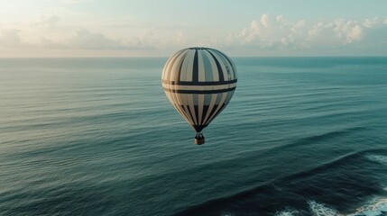
[(0, 58), (387, 56), (384, 0), (0, 0)]

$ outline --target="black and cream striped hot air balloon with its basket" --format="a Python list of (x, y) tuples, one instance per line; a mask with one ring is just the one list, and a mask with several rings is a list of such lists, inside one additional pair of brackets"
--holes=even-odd
[(217, 49), (193, 47), (171, 56), (162, 69), (161, 83), (170, 103), (197, 132), (204, 144), (206, 128), (230, 102), (236, 88), (233, 61)]

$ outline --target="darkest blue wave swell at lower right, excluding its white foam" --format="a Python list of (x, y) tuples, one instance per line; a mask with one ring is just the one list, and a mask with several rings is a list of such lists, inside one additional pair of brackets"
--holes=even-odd
[[(176, 215), (274, 215), (290, 207), (298, 215), (311, 215), (309, 202), (327, 203), (337, 211), (349, 213), (373, 195), (387, 195), (381, 182), (387, 180), (387, 166), (366, 157), (387, 155), (373, 149), (339, 157), (322, 166), (269, 181), (231, 197), (218, 198), (180, 211)], [(374, 175), (378, 174), (378, 175)]]

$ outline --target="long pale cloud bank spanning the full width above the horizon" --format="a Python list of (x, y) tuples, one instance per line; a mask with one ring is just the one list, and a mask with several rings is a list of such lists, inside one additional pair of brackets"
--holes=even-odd
[(31, 23), (12, 26), (0, 23), (0, 49), (147, 50), (163, 56), (165, 50), (210, 46), (238, 50), (238, 53), (244, 50), (291, 54), (314, 49), (377, 49), (380, 54), (387, 55), (387, 17), (311, 22), (290, 20), (282, 14), (262, 14), (250, 23), (241, 23), (239, 31), (229, 29), (226, 34), (198, 31), (189, 23), (142, 23), (133, 18), (77, 25), (65, 21), (58, 14), (43, 14)]

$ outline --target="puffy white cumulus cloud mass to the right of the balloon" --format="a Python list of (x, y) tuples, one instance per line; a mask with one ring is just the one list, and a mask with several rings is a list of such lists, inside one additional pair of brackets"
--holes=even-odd
[(227, 35), (224, 44), (262, 49), (336, 48), (359, 43), (371, 29), (385, 28), (383, 23), (387, 20), (378, 17), (364, 21), (338, 18), (309, 23), (305, 20), (291, 21), (282, 14), (263, 14), (240, 33)]

